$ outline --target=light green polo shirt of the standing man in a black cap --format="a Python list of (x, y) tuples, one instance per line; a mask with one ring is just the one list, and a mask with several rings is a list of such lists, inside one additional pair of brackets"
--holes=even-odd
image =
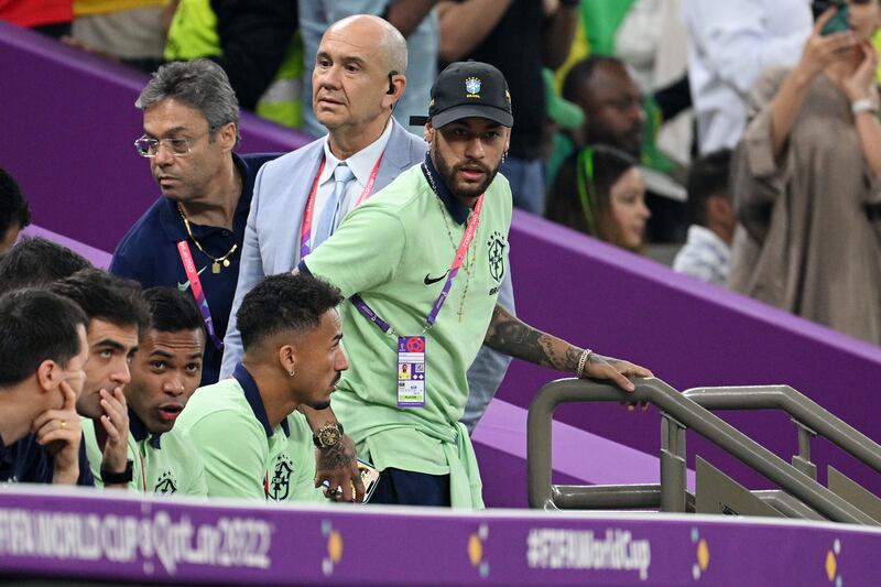
[[(485, 196), (467, 263), (425, 335), (424, 407), (398, 407), (396, 337), (383, 334), (350, 302), (340, 306), (349, 370), (331, 396), (334, 412), (378, 469), (449, 474), (454, 507), (482, 507), (474, 449), (458, 421), (468, 398), (466, 371), (483, 341), (503, 276), (493, 276), (491, 267), (499, 265), (491, 264), (490, 251), (507, 258), (510, 224), (511, 189), (498, 175)], [(464, 230), (415, 165), (352, 210), (305, 262), (346, 297), (360, 293), (396, 333), (420, 335), (445, 281), (425, 285), (425, 280), (450, 268)]]

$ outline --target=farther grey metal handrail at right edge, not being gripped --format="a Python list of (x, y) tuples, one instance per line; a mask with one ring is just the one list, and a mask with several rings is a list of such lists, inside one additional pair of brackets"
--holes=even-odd
[(710, 411), (786, 412), (798, 431), (798, 454), (792, 457), (792, 464), (813, 479), (817, 478), (817, 467), (811, 463), (811, 438), (817, 435), (881, 472), (880, 445), (790, 385), (694, 388), (684, 391), (683, 395)]

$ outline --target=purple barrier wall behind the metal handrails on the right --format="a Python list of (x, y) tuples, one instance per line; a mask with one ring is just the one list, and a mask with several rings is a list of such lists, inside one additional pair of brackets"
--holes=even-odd
[[(873, 345), (521, 211), (514, 213), (511, 263), (518, 314), (539, 328), (644, 365), (679, 390), (786, 383), (881, 441), (877, 392), (881, 349)], [(536, 390), (555, 377), (547, 369), (514, 361), (498, 398), (527, 407)], [(784, 459), (797, 450), (794, 427), (782, 413), (718, 415)], [(643, 414), (619, 405), (568, 404), (555, 417), (659, 454), (655, 410)], [(834, 463), (881, 492), (881, 476), (874, 471), (825, 441), (815, 441), (812, 448), (815, 463)], [(690, 466), (700, 453), (741, 482), (768, 486), (696, 435), (689, 434), (687, 449)], [(525, 464), (522, 476), (525, 479)], [(820, 467), (820, 478), (825, 478), (825, 467)]]

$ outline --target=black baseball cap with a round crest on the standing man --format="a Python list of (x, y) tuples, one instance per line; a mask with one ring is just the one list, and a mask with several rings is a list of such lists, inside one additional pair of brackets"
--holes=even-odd
[(428, 120), (440, 128), (469, 117), (488, 118), (502, 127), (514, 126), (511, 94), (500, 70), (488, 63), (457, 62), (446, 66), (432, 87), (427, 117), (410, 117), (413, 126)]

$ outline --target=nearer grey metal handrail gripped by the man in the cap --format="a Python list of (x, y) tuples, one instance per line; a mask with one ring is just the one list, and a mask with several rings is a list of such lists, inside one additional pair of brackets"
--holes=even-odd
[[(804, 472), (760, 446), (711, 412), (684, 396), (660, 379), (638, 379), (637, 389), (627, 393), (610, 383), (584, 379), (562, 379), (544, 385), (532, 401), (527, 418), (526, 457), (529, 500), (532, 508), (556, 508), (551, 487), (551, 422), (557, 405), (572, 402), (649, 402), (692, 428), (747, 466), (764, 475), (790, 494), (835, 522), (875, 525), (877, 522)], [(662, 455), (661, 493), (663, 511), (684, 511), (684, 483), (665, 483)], [(684, 469), (681, 469), (684, 477)], [(672, 485), (673, 487), (668, 487)], [(676, 492), (679, 494), (668, 494)], [(665, 496), (665, 493), (667, 493)], [(682, 503), (675, 509), (670, 504)], [(666, 507), (665, 507), (666, 506)]]

